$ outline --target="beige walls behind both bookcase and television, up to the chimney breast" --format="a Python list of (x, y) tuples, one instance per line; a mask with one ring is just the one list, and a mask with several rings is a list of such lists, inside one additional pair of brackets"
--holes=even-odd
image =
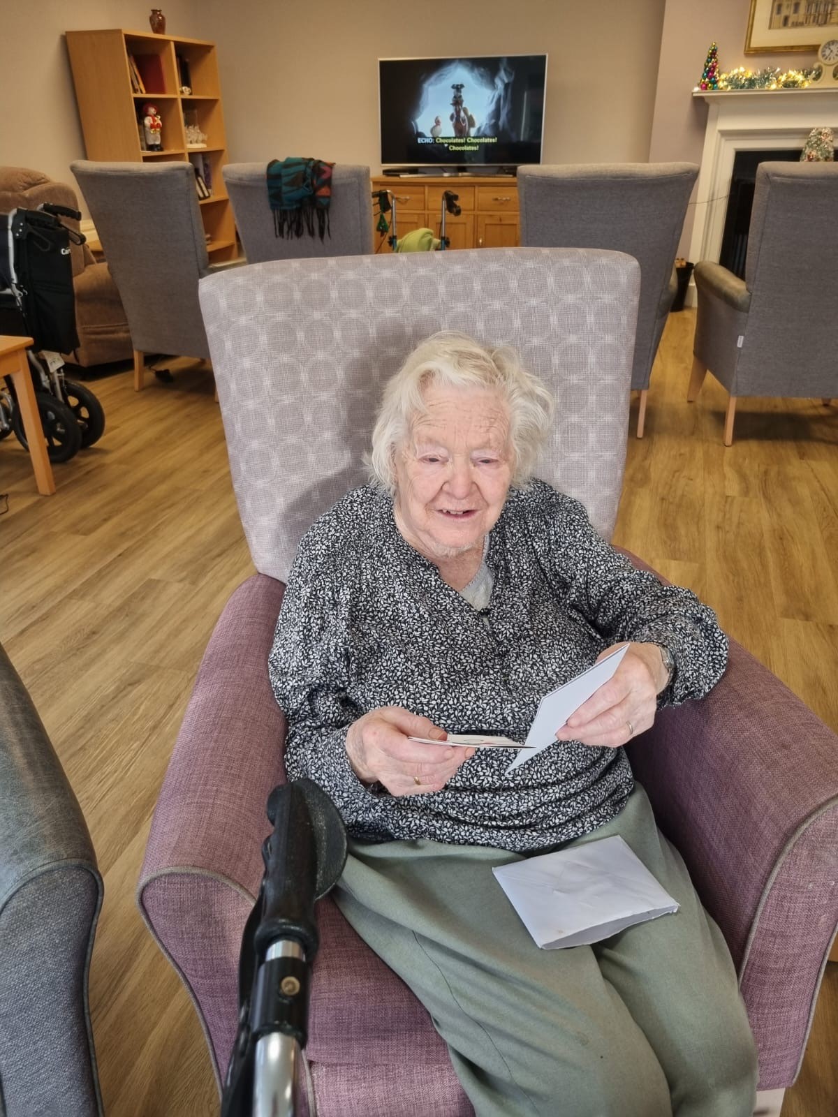
[[(648, 156), (665, 0), (426, 0), (392, 9), (381, 0), (163, 0), (162, 7), (168, 32), (219, 45), (235, 161), (314, 155), (378, 170), (378, 57), (456, 51), (550, 55), (545, 161)], [(63, 32), (145, 30), (150, 8), (137, 0), (2, 0), (0, 163), (70, 178), (84, 141)]]

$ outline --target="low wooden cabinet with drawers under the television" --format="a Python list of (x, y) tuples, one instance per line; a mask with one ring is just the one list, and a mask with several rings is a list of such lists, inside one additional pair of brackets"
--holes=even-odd
[[(458, 217), (446, 213), (449, 248), (515, 248), (518, 244), (517, 182), (507, 174), (418, 175), (401, 179), (381, 175), (372, 180), (373, 190), (389, 190), (396, 200), (397, 232), (401, 238), (411, 229), (432, 229), (438, 237), (441, 225), (442, 194), (457, 194)], [(389, 232), (375, 233), (375, 251), (389, 252)]]

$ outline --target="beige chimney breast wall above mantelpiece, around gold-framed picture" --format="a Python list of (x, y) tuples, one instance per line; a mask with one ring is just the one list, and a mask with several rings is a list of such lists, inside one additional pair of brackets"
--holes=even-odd
[[(781, 66), (790, 69), (813, 64), (815, 55), (798, 51), (746, 55), (750, 8), (750, 0), (703, 0), (702, 3), (696, 0), (666, 0), (649, 145), (653, 162), (687, 160), (701, 163), (707, 102), (691, 94), (702, 76), (707, 49), (714, 40), (718, 47), (721, 70), (731, 70), (735, 66), (750, 69)], [(689, 249), (696, 204), (701, 204), (697, 190), (687, 210), (678, 249), (680, 256), (686, 256)]]

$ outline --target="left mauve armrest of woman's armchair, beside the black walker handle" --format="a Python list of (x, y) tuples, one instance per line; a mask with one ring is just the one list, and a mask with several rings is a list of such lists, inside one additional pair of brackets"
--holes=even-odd
[(219, 1078), (236, 1033), (241, 929), (261, 879), (285, 718), (268, 651), (285, 586), (256, 574), (225, 607), (154, 810), (137, 903), (180, 973)]

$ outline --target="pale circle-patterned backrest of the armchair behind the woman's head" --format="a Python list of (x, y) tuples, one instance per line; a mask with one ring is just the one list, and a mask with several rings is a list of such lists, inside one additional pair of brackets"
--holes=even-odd
[(459, 330), (512, 345), (556, 395), (539, 476), (609, 538), (622, 486), (640, 274), (619, 252), (478, 249), (256, 264), (200, 300), (256, 569), (285, 580), (311, 524), (365, 480), (384, 382)]

